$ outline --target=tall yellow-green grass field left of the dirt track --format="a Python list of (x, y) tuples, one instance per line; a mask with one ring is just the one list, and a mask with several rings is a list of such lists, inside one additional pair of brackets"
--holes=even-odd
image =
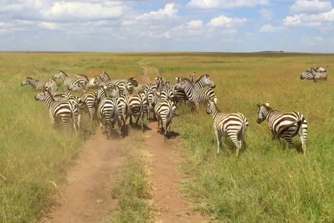
[(45, 103), (34, 100), (39, 92), (20, 86), (24, 79), (49, 79), (59, 69), (71, 77), (103, 70), (111, 78), (138, 77), (132, 60), (113, 54), (0, 54), (0, 222), (38, 222), (56, 204), (67, 166), (95, 132), (88, 112), (79, 134), (54, 130)]

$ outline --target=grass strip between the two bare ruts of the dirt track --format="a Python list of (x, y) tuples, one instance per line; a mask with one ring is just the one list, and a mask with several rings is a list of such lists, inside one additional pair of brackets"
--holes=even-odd
[(118, 182), (111, 188), (111, 196), (118, 199), (118, 207), (103, 222), (154, 222), (150, 176), (145, 167), (148, 157), (141, 149), (132, 153), (123, 164)]

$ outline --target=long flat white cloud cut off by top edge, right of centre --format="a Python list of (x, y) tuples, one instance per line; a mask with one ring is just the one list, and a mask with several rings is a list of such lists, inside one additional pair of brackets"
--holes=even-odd
[(188, 8), (252, 8), (257, 5), (268, 5), (269, 0), (191, 0), (186, 4)]

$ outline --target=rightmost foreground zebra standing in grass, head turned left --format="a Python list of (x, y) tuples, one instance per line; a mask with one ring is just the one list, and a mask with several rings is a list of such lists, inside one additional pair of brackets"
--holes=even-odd
[(269, 107), (269, 102), (265, 105), (257, 104), (257, 123), (268, 120), (269, 129), (273, 134), (273, 139), (284, 138), (289, 146), (294, 144), (292, 138), (299, 134), (301, 138), (301, 147), (304, 154), (306, 153), (306, 137), (308, 136), (308, 123), (300, 112), (279, 112)]

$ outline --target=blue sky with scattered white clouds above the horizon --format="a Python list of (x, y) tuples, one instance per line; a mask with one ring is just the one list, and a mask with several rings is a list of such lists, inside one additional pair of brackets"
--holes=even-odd
[(334, 52), (328, 0), (0, 0), (0, 50)]

